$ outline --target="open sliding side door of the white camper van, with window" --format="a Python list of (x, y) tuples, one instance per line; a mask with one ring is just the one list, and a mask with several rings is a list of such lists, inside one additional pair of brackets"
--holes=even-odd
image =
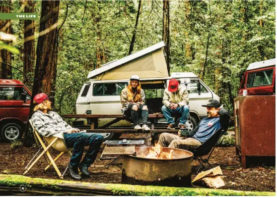
[(91, 114), (122, 114), (121, 92), (127, 86), (127, 81), (92, 82), (92, 97), (88, 98), (88, 110), (91, 110)]

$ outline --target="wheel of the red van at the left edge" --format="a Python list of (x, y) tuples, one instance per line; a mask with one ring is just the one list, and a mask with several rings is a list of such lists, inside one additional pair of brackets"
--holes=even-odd
[(5, 142), (12, 142), (22, 137), (22, 129), (18, 124), (7, 123), (1, 128), (1, 138)]

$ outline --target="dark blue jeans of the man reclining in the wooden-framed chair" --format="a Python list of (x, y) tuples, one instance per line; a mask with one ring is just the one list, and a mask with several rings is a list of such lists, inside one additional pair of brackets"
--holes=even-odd
[[(70, 164), (73, 167), (79, 166), (79, 164), (89, 167), (96, 159), (97, 153), (103, 142), (102, 135), (87, 134), (85, 132), (64, 134), (64, 139), (67, 147), (73, 148), (72, 157), (70, 159)], [(89, 146), (89, 148), (81, 161), (85, 146)]]

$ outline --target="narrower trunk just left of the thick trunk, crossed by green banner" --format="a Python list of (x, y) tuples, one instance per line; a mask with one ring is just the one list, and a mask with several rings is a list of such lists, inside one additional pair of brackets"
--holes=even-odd
[[(24, 7), (25, 13), (34, 13), (34, 1), (26, 0)], [(35, 63), (35, 22), (34, 20), (24, 20), (24, 62), (23, 62), (23, 73), (28, 78), (24, 78), (24, 84), (31, 87), (30, 78), (33, 76), (34, 63)]]

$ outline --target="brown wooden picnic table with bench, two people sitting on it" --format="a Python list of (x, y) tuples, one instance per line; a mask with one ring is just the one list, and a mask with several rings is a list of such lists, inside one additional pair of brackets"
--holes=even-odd
[[(132, 122), (132, 119), (125, 117), (122, 114), (119, 115), (92, 115), (92, 114), (64, 114), (64, 118), (87, 118), (87, 123), (90, 125), (90, 129), (86, 129), (87, 133), (150, 133), (151, 135), (151, 145), (154, 145), (155, 140), (158, 139), (159, 133), (178, 133), (178, 130), (168, 130), (168, 129), (155, 129), (155, 124), (159, 118), (164, 118), (163, 114), (149, 114), (148, 119), (151, 122), (151, 130), (149, 132), (135, 129), (122, 129), (122, 128), (107, 128), (112, 124), (120, 120), (127, 120)], [(99, 127), (99, 118), (115, 118), (115, 120)]]

